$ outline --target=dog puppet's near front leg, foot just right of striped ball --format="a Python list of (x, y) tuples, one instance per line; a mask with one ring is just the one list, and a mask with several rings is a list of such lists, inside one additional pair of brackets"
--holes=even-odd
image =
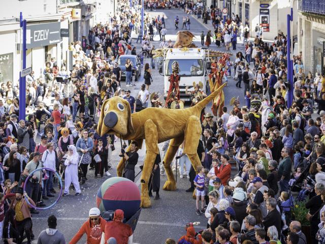
[(141, 175), (141, 207), (150, 207), (151, 202), (148, 192), (148, 182), (154, 161), (156, 156), (159, 154), (157, 127), (151, 119), (148, 119), (144, 124), (144, 131), (147, 153)]

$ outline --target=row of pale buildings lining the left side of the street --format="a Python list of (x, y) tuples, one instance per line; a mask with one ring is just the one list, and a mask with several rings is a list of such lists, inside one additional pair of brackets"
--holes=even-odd
[[(116, 0), (97, 0), (113, 3)], [(69, 45), (87, 39), (96, 23), (95, 0), (12, 0), (2, 5), (0, 18), (0, 82), (18, 84), (21, 70), (21, 31), (19, 10), (27, 21), (26, 67), (42, 77), (45, 63), (55, 59), (58, 67), (66, 64)], [(111, 5), (103, 4), (103, 9)], [(114, 8), (108, 10), (114, 13)], [(103, 15), (103, 20), (108, 15)], [(106, 21), (105, 21), (106, 22)], [(84, 43), (86, 45), (86, 43)]]

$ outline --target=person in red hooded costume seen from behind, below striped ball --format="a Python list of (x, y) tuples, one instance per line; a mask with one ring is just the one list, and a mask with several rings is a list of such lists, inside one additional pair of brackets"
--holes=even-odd
[(114, 212), (113, 221), (109, 221), (105, 225), (105, 243), (111, 237), (116, 239), (118, 244), (133, 243), (132, 228), (123, 224), (124, 212), (121, 209), (116, 209)]

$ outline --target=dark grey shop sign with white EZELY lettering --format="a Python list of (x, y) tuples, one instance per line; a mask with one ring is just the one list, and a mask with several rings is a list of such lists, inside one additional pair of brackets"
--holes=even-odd
[(27, 49), (60, 42), (60, 22), (27, 25)]

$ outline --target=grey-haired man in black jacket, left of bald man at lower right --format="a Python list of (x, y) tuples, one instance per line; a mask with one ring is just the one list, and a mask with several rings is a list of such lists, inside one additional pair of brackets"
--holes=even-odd
[(274, 198), (268, 198), (266, 200), (266, 207), (268, 209), (268, 215), (265, 217), (263, 224), (266, 231), (272, 225), (278, 230), (278, 236), (281, 236), (281, 215), (276, 209), (277, 201)]

